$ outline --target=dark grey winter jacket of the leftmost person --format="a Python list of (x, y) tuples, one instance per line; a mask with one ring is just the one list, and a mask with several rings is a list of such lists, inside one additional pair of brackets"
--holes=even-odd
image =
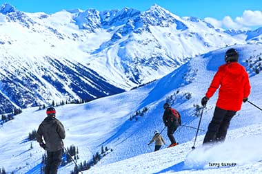
[(54, 152), (63, 149), (62, 139), (66, 138), (63, 124), (52, 116), (48, 116), (39, 125), (37, 130), (37, 142), (46, 142), (46, 151)]

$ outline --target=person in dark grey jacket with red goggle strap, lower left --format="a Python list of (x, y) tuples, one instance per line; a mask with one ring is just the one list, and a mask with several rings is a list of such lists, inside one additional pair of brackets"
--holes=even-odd
[(45, 174), (56, 174), (63, 153), (62, 139), (66, 138), (66, 133), (63, 124), (55, 118), (54, 107), (49, 107), (46, 113), (48, 116), (41, 122), (37, 130), (37, 142), (48, 153)]

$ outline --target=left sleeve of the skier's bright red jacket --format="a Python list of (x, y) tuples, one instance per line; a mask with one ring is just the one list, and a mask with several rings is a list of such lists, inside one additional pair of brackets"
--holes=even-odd
[(207, 98), (211, 98), (214, 95), (216, 89), (219, 88), (222, 77), (223, 77), (223, 67), (219, 67), (219, 70), (214, 75), (212, 83), (210, 84), (210, 87), (208, 88), (208, 91), (205, 94)]

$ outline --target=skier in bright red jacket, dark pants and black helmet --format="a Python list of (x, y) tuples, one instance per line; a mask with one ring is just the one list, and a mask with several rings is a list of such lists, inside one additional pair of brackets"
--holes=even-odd
[(248, 100), (250, 81), (245, 67), (237, 63), (239, 53), (231, 48), (225, 52), (225, 64), (219, 67), (201, 104), (205, 107), (219, 88), (219, 99), (216, 102), (214, 116), (208, 126), (203, 144), (208, 142), (223, 142), (227, 135), (230, 120), (241, 109), (242, 102)]

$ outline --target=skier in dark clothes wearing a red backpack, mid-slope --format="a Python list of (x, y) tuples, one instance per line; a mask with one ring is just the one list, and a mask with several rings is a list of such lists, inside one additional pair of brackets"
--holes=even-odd
[(168, 127), (168, 138), (170, 139), (170, 146), (176, 146), (178, 143), (174, 139), (174, 131), (177, 130), (177, 127), (181, 124), (181, 120), (179, 112), (175, 109), (172, 109), (168, 103), (165, 103), (163, 105), (163, 109), (165, 109), (165, 112), (163, 114), (163, 122), (165, 124), (165, 127)]

